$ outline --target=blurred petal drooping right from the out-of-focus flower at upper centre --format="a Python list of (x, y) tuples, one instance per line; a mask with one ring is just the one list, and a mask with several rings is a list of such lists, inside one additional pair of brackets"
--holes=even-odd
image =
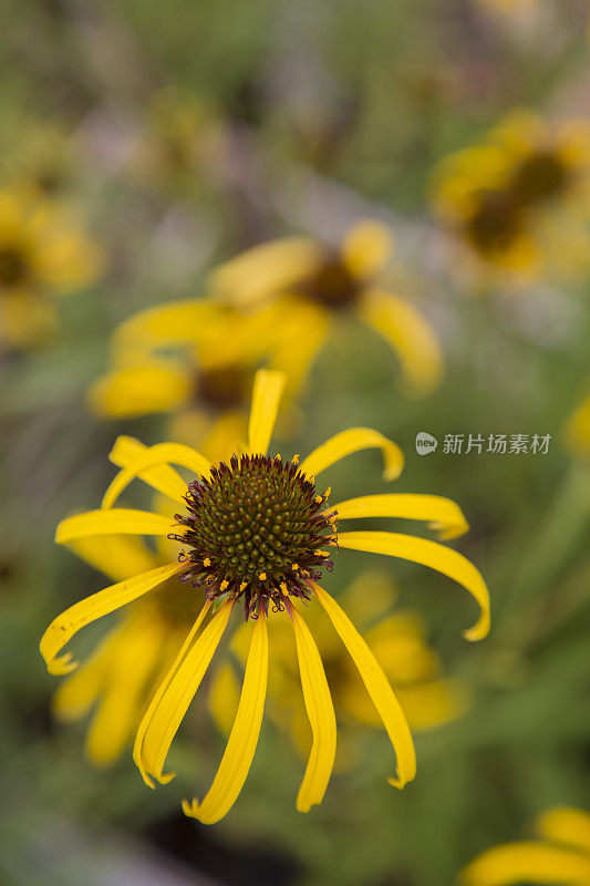
[(410, 302), (372, 289), (359, 305), (361, 317), (395, 351), (412, 393), (431, 393), (443, 374), (443, 354), (434, 330)]

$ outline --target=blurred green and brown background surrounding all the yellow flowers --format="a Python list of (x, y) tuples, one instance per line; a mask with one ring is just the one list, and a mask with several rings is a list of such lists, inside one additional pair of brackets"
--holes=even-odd
[[(95, 285), (59, 302), (50, 340), (0, 350), (2, 886), (447, 886), (548, 805), (588, 807), (590, 475), (562, 430), (590, 374), (590, 278), (541, 277), (517, 296), (490, 282), (477, 297), (445, 259), (428, 202), (434, 164), (510, 109), (590, 115), (586, 3), (539, 0), (526, 14), (505, 6), (3, 0), (2, 187), (46, 162), (51, 198), (83, 219), (106, 264)], [(169, 86), (200, 109), (203, 151), (188, 165), (135, 153), (149, 142), (153, 96)], [(403, 792), (385, 783), (384, 734), (366, 730), (360, 764), (337, 774), (308, 815), (294, 808), (301, 761), (265, 723), (236, 807), (200, 826), (178, 799), (221, 752), (205, 704), (175, 742), (178, 783), (158, 792), (131, 754), (93, 770), (83, 724), (51, 715), (56, 681), (40, 635), (104, 584), (53, 545), (55, 525), (97, 506), (117, 434), (164, 439), (161, 419), (99, 422), (85, 391), (107, 367), (113, 329), (133, 312), (204, 295), (206, 275), (247, 246), (293, 231), (338, 241), (368, 215), (395, 237), (395, 258), (442, 341), (445, 378), (425, 400), (404, 398), (387, 348), (342, 323), (281, 451), (374, 426), (406, 455), (396, 491), (463, 507), (472, 530), (456, 547), (489, 585), (487, 640), (460, 638), (474, 607), (459, 588), (413, 565), (386, 568), (400, 606), (426, 618), (445, 671), (469, 687), (473, 704), (416, 736), (418, 775)], [(414, 447), (421, 431), (439, 441), (425, 457)], [(442, 446), (448, 433), (551, 442), (546, 455), (452, 455)], [(372, 452), (329, 482), (341, 498), (383, 490)], [(337, 593), (373, 559), (346, 554), (328, 587)], [(92, 648), (103, 630), (89, 629), (76, 648)]]

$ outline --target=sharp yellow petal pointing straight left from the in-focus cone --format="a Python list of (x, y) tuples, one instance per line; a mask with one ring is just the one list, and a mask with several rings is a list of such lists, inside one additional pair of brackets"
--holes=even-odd
[(168, 535), (173, 523), (169, 517), (149, 511), (117, 507), (110, 511), (87, 511), (62, 519), (55, 532), (55, 542), (66, 545), (76, 538), (93, 535)]

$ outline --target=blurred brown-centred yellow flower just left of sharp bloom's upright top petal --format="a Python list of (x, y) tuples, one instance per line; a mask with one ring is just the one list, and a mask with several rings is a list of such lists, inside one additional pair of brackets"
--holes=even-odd
[(197, 299), (141, 311), (115, 331), (113, 368), (91, 385), (90, 408), (106, 419), (165, 413), (174, 440), (200, 440), (207, 456), (229, 452), (246, 435), (272, 319)]

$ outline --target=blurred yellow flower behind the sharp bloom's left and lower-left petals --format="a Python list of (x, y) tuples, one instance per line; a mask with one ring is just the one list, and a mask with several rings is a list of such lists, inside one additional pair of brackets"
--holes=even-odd
[[(120, 437), (117, 453), (138, 451), (131, 439)], [(174, 519), (174, 505), (155, 496), (155, 511)], [(82, 559), (114, 581), (165, 566), (179, 553), (177, 542), (156, 538), (155, 552), (130, 535), (75, 537), (76, 517), (58, 529), (58, 542), (68, 544)], [(63, 534), (62, 534), (63, 533)], [(72, 540), (73, 536), (73, 540)], [(68, 540), (70, 539), (70, 540)], [(131, 604), (121, 621), (95, 652), (62, 682), (53, 697), (53, 711), (63, 721), (80, 720), (92, 710), (85, 752), (96, 766), (114, 764), (132, 741), (147, 702), (168, 672), (179, 647), (200, 609), (190, 587), (173, 579)]]

